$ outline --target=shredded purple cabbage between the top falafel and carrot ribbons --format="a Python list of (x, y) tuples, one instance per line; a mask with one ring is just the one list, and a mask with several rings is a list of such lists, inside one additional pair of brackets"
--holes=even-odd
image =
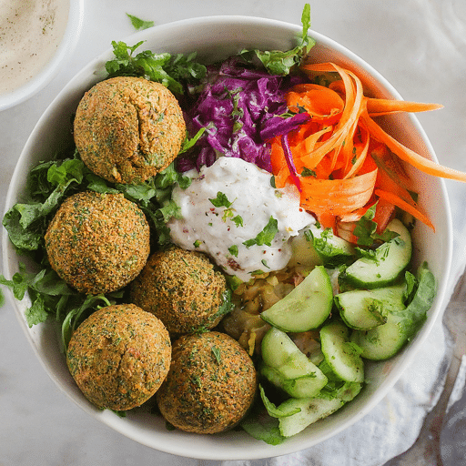
[(180, 157), (177, 169), (199, 170), (223, 155), (240, 157), (271, 172), (267, 141), (309, 120), (308, 114), (283, 117), (288, 112), (285, 93), (298, 81), (299, 77), (269, 75), (240, 56), (208, 66), (206, 84), (187, 113), (190, 133), (202, 127), (206, 131), (194, 154)]

